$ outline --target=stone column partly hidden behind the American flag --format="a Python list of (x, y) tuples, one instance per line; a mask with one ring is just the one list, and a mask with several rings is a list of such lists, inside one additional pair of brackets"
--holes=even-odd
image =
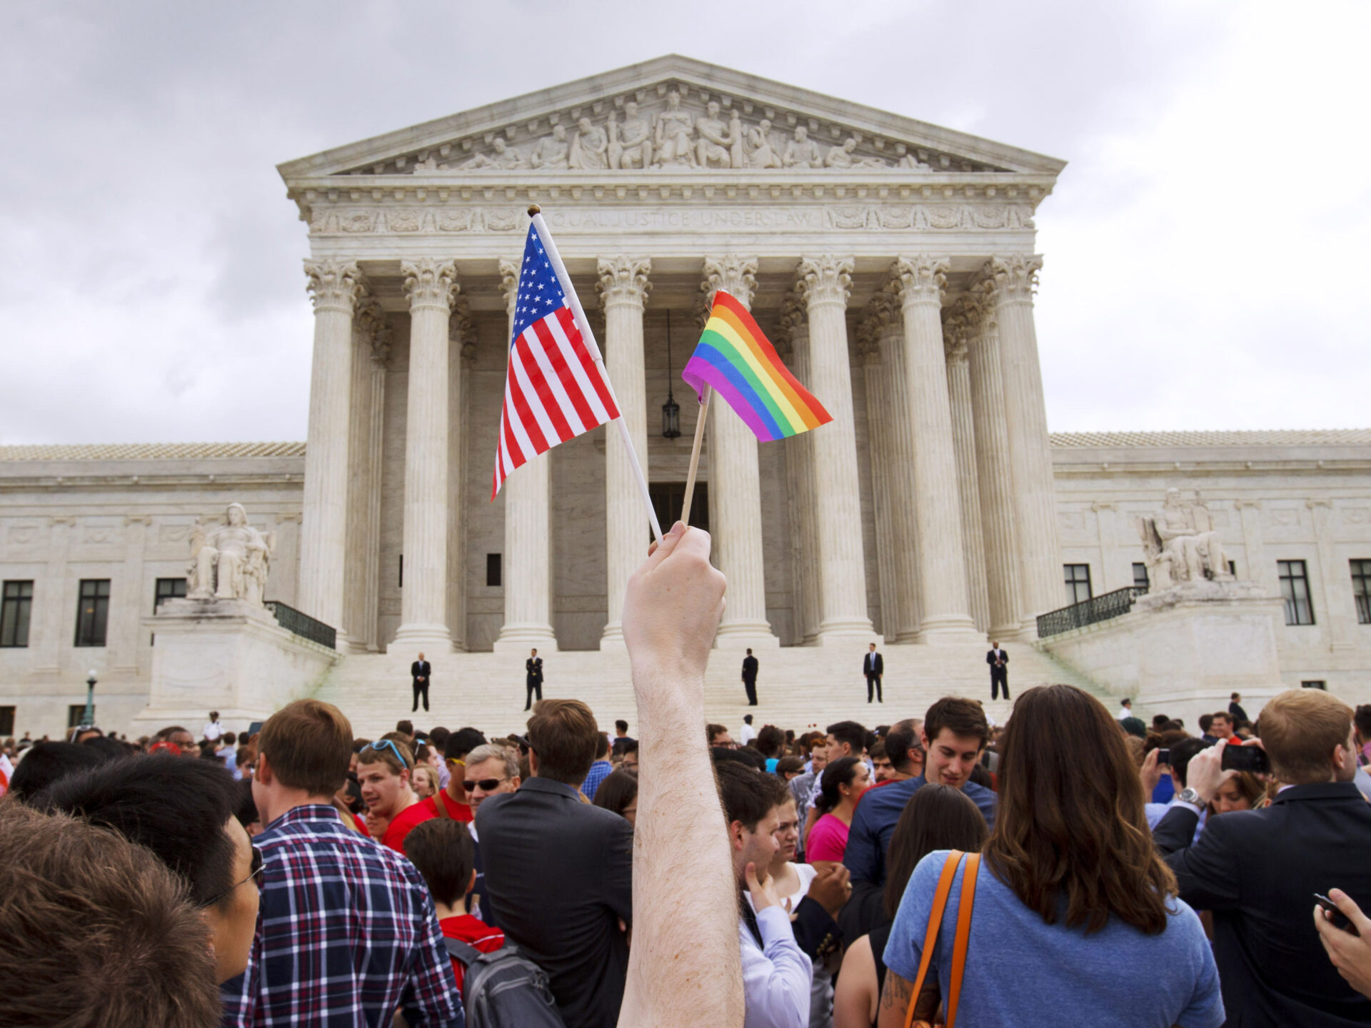
[[(518, 273), (517, 262), (500, 259), (500, 289), (509, 314), (506, 352), (513, 343)], [(500, 489), (505, 500), (505, 624), (495, 640), (495, 652), (532, 648), (557, 652), (551, 617), (551, 450), (539, 454), (506, 478)]]

